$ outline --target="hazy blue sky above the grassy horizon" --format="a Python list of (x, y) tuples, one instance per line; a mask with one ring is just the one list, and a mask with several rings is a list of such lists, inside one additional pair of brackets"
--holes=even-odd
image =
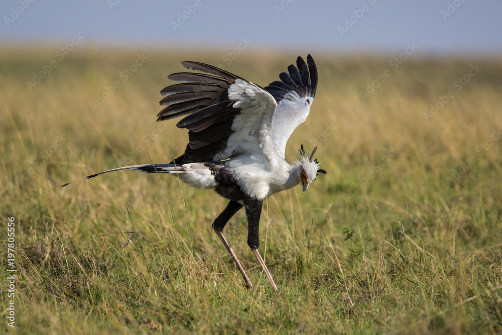
[[(31, 2), (33, 1), (33, 2)], [(502, 1), (2, 0), (0, 44), (432, 55), (502, 53)], [(84, 44), (85, 44), (84, 43)], [(1, 51), (0, 51), (1, 52)]]

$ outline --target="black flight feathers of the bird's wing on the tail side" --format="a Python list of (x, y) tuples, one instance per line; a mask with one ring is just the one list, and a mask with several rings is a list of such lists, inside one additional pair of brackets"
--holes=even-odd
[[(193, 61), (181, 62), (183, 67), (200, 72), (179, 72), (168, 76), (179, 84), (164, 88), (161, 100), (165, 108), (157, 121), (184, 116), (178, 128), (188, 129), (189, 144), (179, 164), (210, 161), (224, 149), (232, 133), (232, 121), (240, 112), (232, 108), (228, 87), (242, 79), (219, 67)], [(146, 171), (149, 172), (149, 171)]]

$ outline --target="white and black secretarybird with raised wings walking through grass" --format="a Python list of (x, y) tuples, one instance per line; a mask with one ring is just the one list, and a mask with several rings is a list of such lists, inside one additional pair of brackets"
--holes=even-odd
[(317, 87), (317, 68), (310, 55), (301, 57), (297, 66), (279, 75), (262, 88), (215, 66), (182, 62), (197, 72), (168, 76), (182, 82), (164, 88), (160, 101), (166, 106), (157, 121), (185, 116), (176, 125), (188, 129), (185, 153), (169, 164), (146, 164), (120, 167), (150, 173), (174, 174), (182, 182), (199, 189), (213, 189), (230, 200), (216, 217), (212, 228), (225, 245), (246, 287), (252, 287), (244, 268), (222, 234), (228, 220), (244, 207), (248, 222), (247, 244), (255, 254), (274, 290), (277, 286), (265, 265), (258, 247), (259, 222), (263, 200), (274, 193), (302, 184), (303, 191), (316, 179), (319, 163), (305, 154), (289, 164), (284, 159), (286, 142), (309, 115)]

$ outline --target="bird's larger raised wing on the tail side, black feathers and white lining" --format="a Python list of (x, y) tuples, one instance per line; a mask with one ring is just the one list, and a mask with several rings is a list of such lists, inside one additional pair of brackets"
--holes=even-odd
[[(184, 67), (205, 73), (174, 73), (182, 83), (164, 88), (166, 107), (157, 121), (185, 116), (178, 128), (188, 129), (189, 143), (176, 164), (217, 161), (240, 154), (274, 156), (271, 127), (274, 97), (258, 85), (230, 72), (198, 62)], [(274, 156), (275, 157), (275, 156)]]

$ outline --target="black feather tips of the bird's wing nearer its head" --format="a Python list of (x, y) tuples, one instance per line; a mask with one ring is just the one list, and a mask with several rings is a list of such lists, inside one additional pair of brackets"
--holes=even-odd
[[(276, 101), (281, 101), (284, 96), (294, 90), (300, 96), (315, 97), (317, 89), (317, 67), (310, 54), (307, 55), (307, 62), (298, 56), (296, 66), (288, 66), (288, 72), (279, 75), (281, 81), (271, 82), (265, 89), (272, 94)], [(294, 87), (292, 87), (294, 86)]]

